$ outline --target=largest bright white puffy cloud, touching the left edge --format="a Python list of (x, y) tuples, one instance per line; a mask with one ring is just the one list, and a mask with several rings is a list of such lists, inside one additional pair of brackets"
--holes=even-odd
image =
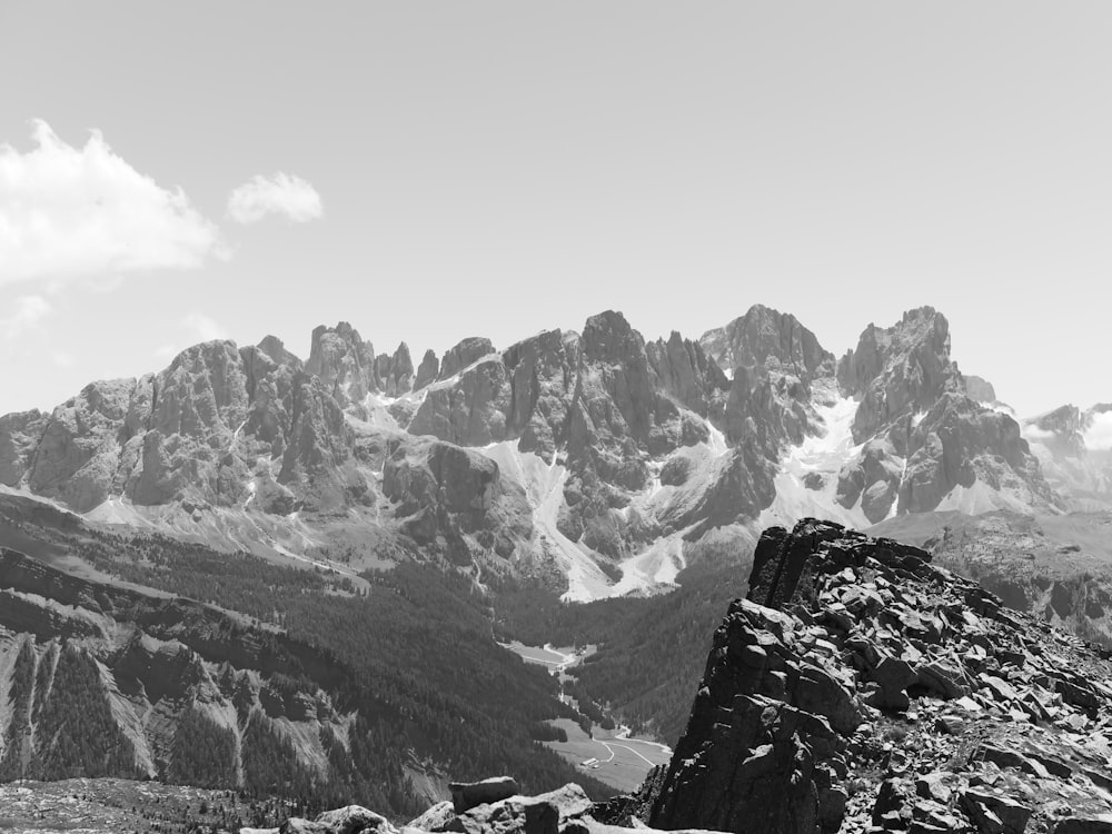
[(180, 188), (140, 173), (92, 131), (83, 148), (34, 121), (36, 148), (0, 146), (0, 282), (148, 269), (226, 257)]

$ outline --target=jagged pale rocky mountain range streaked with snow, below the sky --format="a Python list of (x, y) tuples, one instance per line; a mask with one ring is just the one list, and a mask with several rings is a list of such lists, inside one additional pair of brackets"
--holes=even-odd
[[(1103, 458), (1072, 463), (1069, 419), (1021, 425), (994, 397), (930, 307), (841, 359), (759, 305), (698, 339), (646, 339), (608, 310), (416, 367), (341, 321), (304, 361), (272, 336), (209, 341), (2, 416), (0, 486), (226, 550), (356, 568), (434, 553), (588, 600), (669, 586), (806, 515), (865, 527), (1108, 497)], [(1078, 437), (1103, 438), (1104, 414)]]

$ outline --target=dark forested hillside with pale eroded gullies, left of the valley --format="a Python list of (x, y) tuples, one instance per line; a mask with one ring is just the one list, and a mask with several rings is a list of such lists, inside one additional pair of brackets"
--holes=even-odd
[(318, 807), (374, 796), (405, 813), (441, 797), (447, 773), (513, 765), (537, 790), (572, 774), (534, 737), (576, 714), (494, 642), (486, 603), (451, 572), (407, 563), (354, 593), (10, 506), (9, 540), (64, 544), (59, 558), (102, 578), (0, 552), (0, 780), (157, 778)]

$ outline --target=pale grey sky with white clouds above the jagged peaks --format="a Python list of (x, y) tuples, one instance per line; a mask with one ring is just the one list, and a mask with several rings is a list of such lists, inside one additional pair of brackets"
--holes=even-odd
[(1112, 400), (1112, 4), (0, 2), (0, 414), (210, 338), (415, 361), (931, 305)]

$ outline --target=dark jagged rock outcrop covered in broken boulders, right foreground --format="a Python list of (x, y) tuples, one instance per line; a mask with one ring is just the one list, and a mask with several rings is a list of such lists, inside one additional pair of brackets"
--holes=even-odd
[(814, 519), (771, 528), (672, 763), (609, 818), (1099, 831), (1112, 812), (1110, 657), (925, 550)]

